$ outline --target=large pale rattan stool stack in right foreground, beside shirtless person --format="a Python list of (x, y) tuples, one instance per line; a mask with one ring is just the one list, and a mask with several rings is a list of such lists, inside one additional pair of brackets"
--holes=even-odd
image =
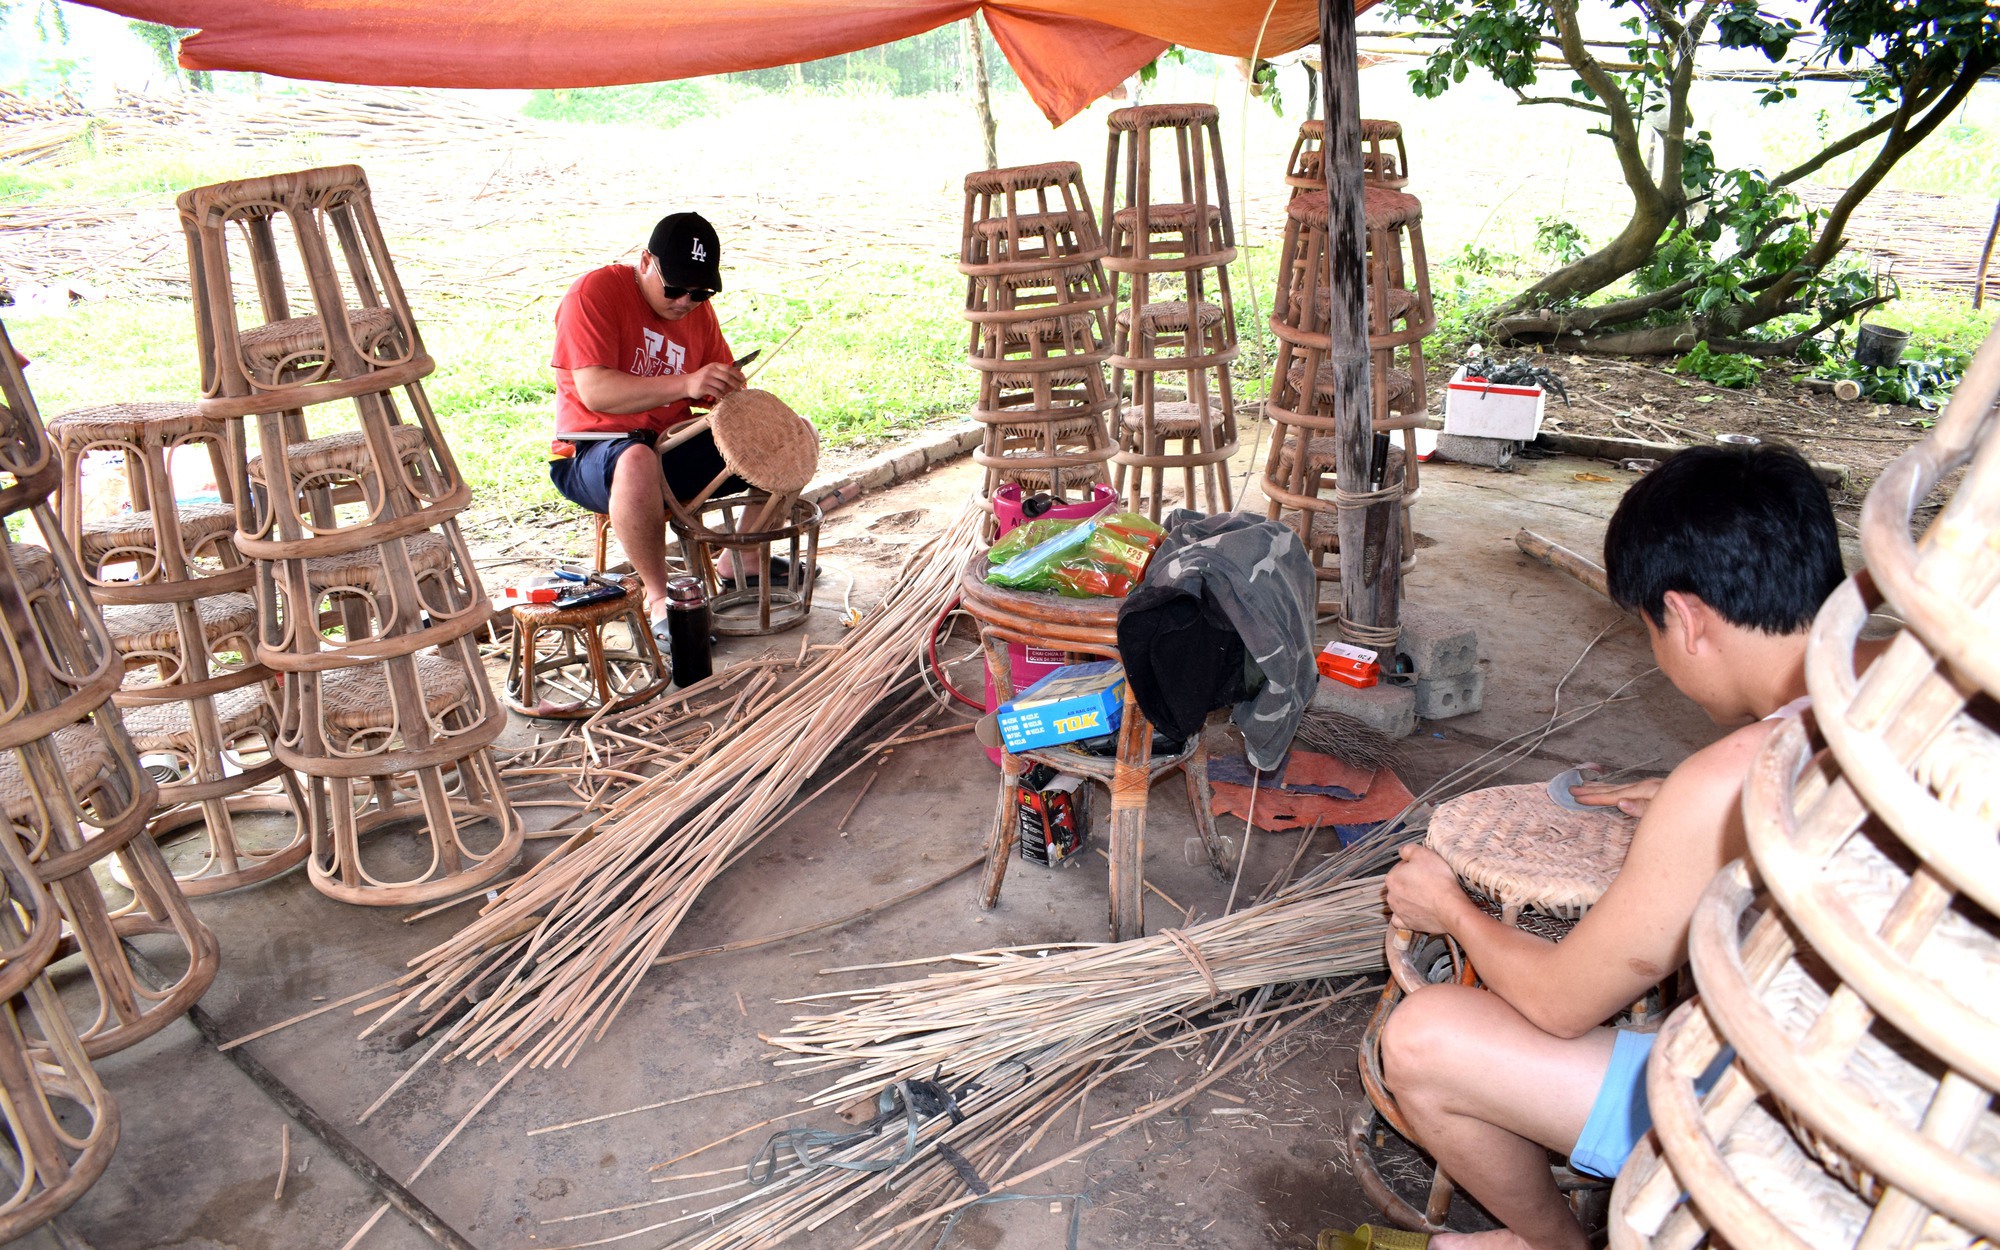
[(1616, 1250), (2000, 1240), (1996, 400), (2000, 334), (1868, 494), (1862, 554), (1902, 628), (1862, 662), (1858, 580), (1814, 622), (1810, 716), (1766, 740), (1750, 860), (1694, 916), (1700, 998), (1654, 1046), (1658, 1146), (1618, 1176)]

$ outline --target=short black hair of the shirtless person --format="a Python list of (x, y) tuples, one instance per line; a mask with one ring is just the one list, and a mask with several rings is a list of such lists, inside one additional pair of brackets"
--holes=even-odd
[(1604, 530), (1620, 608), (1666, 624), (1666, 592), (1764, 634), (1812, 624), (1846, 576), (1826, 488), (1792, 448), (1698, 446), (1632, 484)]

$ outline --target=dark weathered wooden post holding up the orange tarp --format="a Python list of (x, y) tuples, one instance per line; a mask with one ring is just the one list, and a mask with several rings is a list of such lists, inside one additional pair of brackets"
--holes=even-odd
[[(1360, 66), (1356, 62), (1354, 8), (1350, 0), (1320, 0), (1320, 84), (1326, 102), (1326, 254), (1332, 310), (1326, 332), (1332, 338), (1328, 364), (1334, 374), (1334, 486), (1340, 496), (1370, 490), (1370, 402), (1368, 402), (1368, 232), (1362, 212), (1362, 112)], [(1304, 448), (1300, 448), (1304, 454)], [(1380, 562), (1368, 560), (1368, 512), (1396, 528), (1396, 500), (1370, 508), (1338, 508), (1340, 532), (1340, 614), (1364, 628), (1394, 628), (1402, 586), (1382, 584)], [(1390, 542), (1394, 546), (1394, 540)], [(1384, 596), (1386, 590), (1386, 596)]]

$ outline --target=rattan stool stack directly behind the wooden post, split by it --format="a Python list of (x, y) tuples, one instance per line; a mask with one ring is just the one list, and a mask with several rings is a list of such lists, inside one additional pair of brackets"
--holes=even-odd
[[(1298, 530), (1320, 582), (1326, 584), (1340, 576), (1328, 320), (1334, 296), (1346, 292), (1330, 290), (1326, 190), (1308, 188), (1318, 184), (1322, 168), (1318, 126), (1320, 122), (1306, 122), (1300, 130), (1300, 148), (1286, 174), (1294, 194), (1286, 204), (1278, 294), (1270, 314), (1278, 360), (1264, 404), (1272, 432), (1262, 488), (1272, 520), (1284, 518)], [(1430, 264), (1424, 254), (1424, 206), (1416, 196), (1390, 186), (1404, 182), (1402, 130), (1394, 122), (1362, 126), (1376, 128), (1376, 148), (1362, 184), (1368, 238), (1368, 418), (1376, 434), (1402, 432), (1402, 446), (1392, 448), (1384, 480), (1402, 482), (1400, 542), (1408, 570), (1416, 560), (1416, 530), (1410, 524), (1418, 490), (1416, 430), (1426, 422), (1430, 404), (1424, 388), (1424, 338), (1438, 328), (1438, 314), (1430, 300)], [(1382, 150), (1388, 138), (1394, 138), (1394, 152)], [(1376, 170), (1394, 170), (1394, 176), (1384, 180)]]

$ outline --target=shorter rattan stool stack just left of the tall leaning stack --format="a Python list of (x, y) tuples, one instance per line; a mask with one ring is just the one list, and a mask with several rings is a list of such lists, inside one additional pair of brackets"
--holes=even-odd
[[(256, 662), (236, 512), (226, 494), (180, 498), (190, 480), (228, 490), (222, 422), (194, 404), (104, 404), (62, 414), (48, 434), (62, 454), (62, 540), (118, 648), (114, 700), (160, 782), (150, 830), (180, 860), (182, 890), (214, 894), (292, 868), (306, 858), (306, 804), (270, 752), (278, 712), (272, 674)], [(86, 498), (86, 468), (104, 460), (122, 460), (122, 498)], [(252, 792), (272, 786), (280, 792)], [(244, 828), (246, 812), (272, 818)], [(182, 828), (196, 834), (186, 858), (170, 842)]]

